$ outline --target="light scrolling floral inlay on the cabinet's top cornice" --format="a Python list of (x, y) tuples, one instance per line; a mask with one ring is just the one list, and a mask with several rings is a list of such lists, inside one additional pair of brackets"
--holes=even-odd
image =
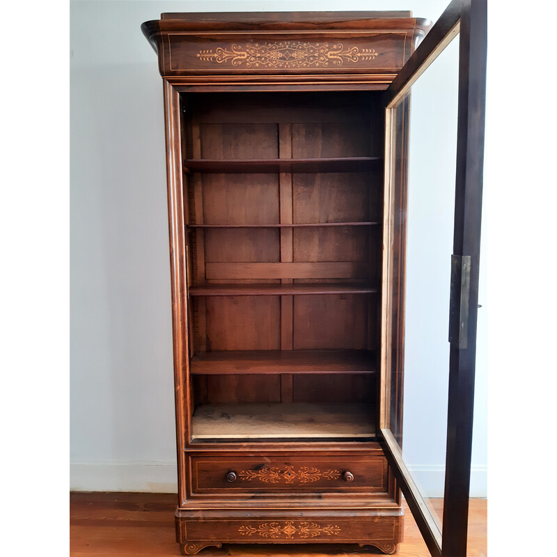
[(217, 49), (204, 49), (197, 53), (203, 62), (217, 64), (231, 63), (233, 66), (245, 65), (246, 68), (322, 68), (343, 65), (345, 62), (373, 60), (378, 56), (375, 49), (351, 47), (342, 43), (329, 45), (328, 42), (301, 42), (282, 40), (280, 42), (248, 42), (246, 45), (230, 45)]

